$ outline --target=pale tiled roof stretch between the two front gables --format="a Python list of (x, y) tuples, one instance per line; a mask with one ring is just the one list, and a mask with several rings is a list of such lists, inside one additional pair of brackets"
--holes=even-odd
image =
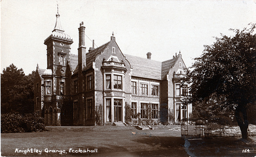
[(161, 62), (124, 54), (131, 63), (133, 76), (161, 80)]

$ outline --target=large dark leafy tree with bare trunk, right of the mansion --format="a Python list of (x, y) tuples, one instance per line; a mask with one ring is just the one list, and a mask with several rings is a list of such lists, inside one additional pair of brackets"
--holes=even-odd
[[(212, 113), (234, 110), (234, 115), (242, 132), (248, 138), (247, 107), (255, 108), (255, 53), (256, 35), (251, 28), (233, 30), (233, 36), (221, 34), (216, 42), (204, 46), (203, 54), (195, 58), (193, 71), (188, 72), (185, 81), (191, 83), (190, 96), (184, 103), (194, 106), (205, 102)], [(206, 103), (206, 102), (218, 103)], [(197, 102), (197, 103), (196, 103)], [(212, 106), (211, 106), (212, 105)]]

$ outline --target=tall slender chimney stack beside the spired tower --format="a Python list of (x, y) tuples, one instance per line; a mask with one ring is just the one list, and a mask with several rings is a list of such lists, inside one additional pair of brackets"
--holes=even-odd
[(82, 70), (86, 66), (86, 46), (85, 37), (86, 27), (83, 26), (83, 22), (80, 23), (79, 31), (79, 47), (78, 47), (78, 70)]

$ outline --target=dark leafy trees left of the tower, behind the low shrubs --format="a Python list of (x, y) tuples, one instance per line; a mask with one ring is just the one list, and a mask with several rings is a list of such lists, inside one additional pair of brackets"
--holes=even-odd
[(35, 72), (25, 75), (23, 69), (11, 64), (1, 74), (1, 113), (33, 112)]

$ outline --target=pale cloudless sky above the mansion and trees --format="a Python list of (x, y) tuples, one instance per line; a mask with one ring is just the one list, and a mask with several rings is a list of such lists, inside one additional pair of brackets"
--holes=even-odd
[(44, 40), (52, 33), (57, 13), (60, 23), (73, 38), (71, 53), (77, 54), (78, 27), (86, 26), (87, 51), (110, 41), (112, 32), (123, 54), (152, 60), (172, 59), (182, 54), (187, 67), (199, 57), (214, 37), (232, 35), (256, 23), (256, 0), (164, 1), (164, 0), (2, 0), (1, 73), (13, 63), (26, 75), (47, 68)]

